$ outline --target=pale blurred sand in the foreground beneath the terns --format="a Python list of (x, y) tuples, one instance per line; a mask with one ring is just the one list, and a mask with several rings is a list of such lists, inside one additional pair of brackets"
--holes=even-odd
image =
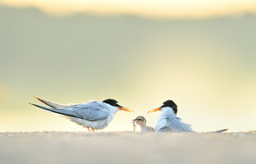
[(4, 132), (1, 164), (255, 164), (256, 133)]

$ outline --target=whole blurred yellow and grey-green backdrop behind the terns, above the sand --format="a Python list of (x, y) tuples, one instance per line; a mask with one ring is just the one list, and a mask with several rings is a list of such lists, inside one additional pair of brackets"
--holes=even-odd
[(34, 95), (135, 111), (103, 131), (154, 126), (166, 100), (194, 130), (255, 130), (255, 14), (254, 0), (0, 0), (0, 131), (87, 131)]

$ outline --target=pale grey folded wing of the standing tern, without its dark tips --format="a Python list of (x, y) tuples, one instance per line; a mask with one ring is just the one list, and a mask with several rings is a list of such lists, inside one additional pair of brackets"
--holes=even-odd
[(106, 119), (109, 116), (109, 110), (97, 103), (97, 101), (88, 102), (85, 104), (72, 106), (74, 111), (79, 116), (82, 116), (84, 120), (98, 121)]

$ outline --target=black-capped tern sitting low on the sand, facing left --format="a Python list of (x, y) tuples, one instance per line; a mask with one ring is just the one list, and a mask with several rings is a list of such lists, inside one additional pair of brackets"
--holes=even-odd
[[(188, 123), (183, 123), (179, 117), (177, 117), (177, 105), (174, 101), (164, 101), (160, 108), (155, 108), (148, 111), (153, 113), (156, 111), (162, 111), (158, 121), (156, 122), (155, 131), (173, 131), (173, 132), (195, 132)], [(228, 129), (216, 130), (214, 133), (221, 133)]]

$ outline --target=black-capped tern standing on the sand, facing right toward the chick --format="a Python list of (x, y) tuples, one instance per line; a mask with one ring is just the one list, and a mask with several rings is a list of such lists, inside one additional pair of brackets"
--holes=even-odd
[(63, 105), (52, 101), (46, 101), (35, 96), (34, 98), (48, 105), (50, 108), (33, 103), (30, 104), (34, 105), (35, 107), (66, 116), (70, 119), (70, 121), (87, 127), (89, 131), (90, 128), (93, 131), (106, 128), (113, 120), (118, 110), (133, 112), (128, 108), (122, 107), (113, 99), (107, 99), (105, 101), (89, 101), (82, 104)]

